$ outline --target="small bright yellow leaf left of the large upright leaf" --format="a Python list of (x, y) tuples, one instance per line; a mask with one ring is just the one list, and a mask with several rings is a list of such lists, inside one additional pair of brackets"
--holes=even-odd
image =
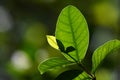
[(46, 37), (47, 37), (47, 41), (48, 41), (49, 45), (55, 49), (58, 49), (58, 45), (57, 45), (55, 36), (47, 35)]

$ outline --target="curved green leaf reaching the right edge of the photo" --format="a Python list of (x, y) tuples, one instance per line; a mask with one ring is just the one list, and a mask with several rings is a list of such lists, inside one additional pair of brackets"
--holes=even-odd
[(92, 72), (94, 73), (99, 66), (99, 64), (103, 61), (103, 59), (112, 51), (120, 48), (119, 40), (111, 40), (98, 47), (92, 56)]

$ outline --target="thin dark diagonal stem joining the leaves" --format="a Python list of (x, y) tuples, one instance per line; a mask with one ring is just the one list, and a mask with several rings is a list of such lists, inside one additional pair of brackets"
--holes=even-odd
[(74, 59), (70, 54), (67, 53), (67, 55), (69, 57), (71, 57), (79, 67), (81, 67), (83, 70), (85, 70), (85, 72), (90, 75), (90, 77), (92, 78), (92, 80), (96, 80), (95, 76), (81, 63), (81, 62), (78, 62), (76, 59)]

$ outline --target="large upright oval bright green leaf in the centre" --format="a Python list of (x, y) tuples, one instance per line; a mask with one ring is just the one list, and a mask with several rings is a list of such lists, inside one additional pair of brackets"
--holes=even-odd
[[(61, 11), (55, 36), (65, 47), (73, 46), (76, 49), (70, 52), (70, 55), (77, 61), (85, 57), (89, 42), (88, 26), (84, 16), (76, 7), (69, 5)], [(68, 55), (63, 55), (73, 61)]]

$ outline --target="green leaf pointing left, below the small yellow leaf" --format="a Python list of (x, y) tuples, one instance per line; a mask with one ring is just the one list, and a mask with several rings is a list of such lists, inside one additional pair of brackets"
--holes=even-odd
[(72, 62), (62, 58), (51, 58), (39, 64), (38, 70), (43, 74), (49, 70), (53, 70), (57, 67), (65, 67), (69, 64), (72, 64)]

